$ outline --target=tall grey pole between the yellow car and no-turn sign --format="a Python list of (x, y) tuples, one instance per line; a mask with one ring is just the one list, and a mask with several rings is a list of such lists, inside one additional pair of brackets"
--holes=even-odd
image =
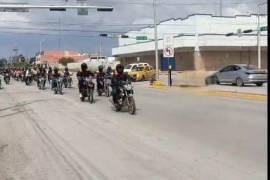
[(157, 35), (157, 4), (156, 4), (156, 0), (153, 0), (153, 11), (154, 11), (154, 34), (155, 34), (156, 80), (159, 80), (158, 35)]

